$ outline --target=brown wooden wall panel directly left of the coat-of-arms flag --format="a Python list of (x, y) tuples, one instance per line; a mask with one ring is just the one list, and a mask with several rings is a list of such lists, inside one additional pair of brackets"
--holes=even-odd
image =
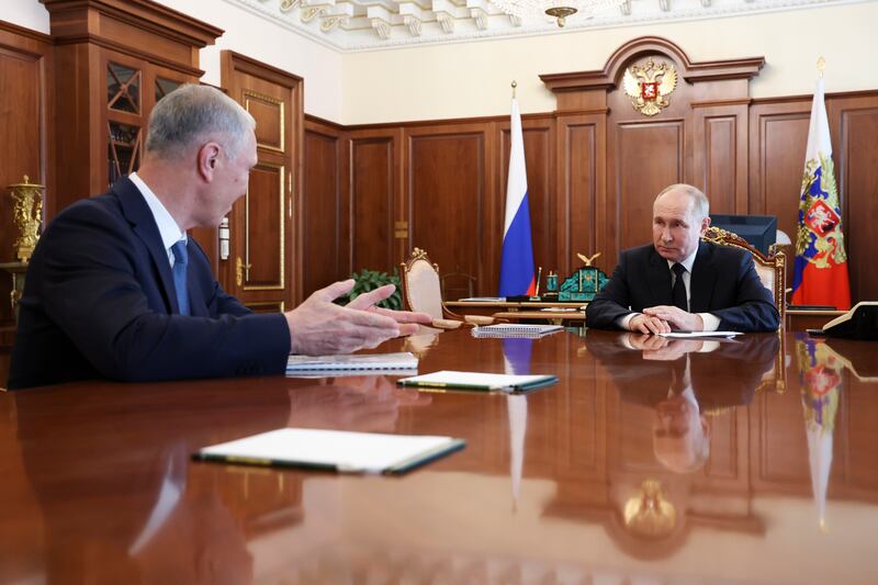
[(792, 258), (799, 221), (804, 148), (811, 115), (810, 99), (757, 102), (750, 108), (748, 213), (777, 216), (777, 228), (792, 240), (787, 246), (787, 286), (792, 284)]

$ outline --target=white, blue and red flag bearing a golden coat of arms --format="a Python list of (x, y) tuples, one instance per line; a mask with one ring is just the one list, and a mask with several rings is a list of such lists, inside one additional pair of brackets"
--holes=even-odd
[(842, 210), (832, 165), (832, 143), (823, 102), (823, 78), (811, 104), (799, 201), (799, 228), (792, 273), (792, 303), (851, 308)]

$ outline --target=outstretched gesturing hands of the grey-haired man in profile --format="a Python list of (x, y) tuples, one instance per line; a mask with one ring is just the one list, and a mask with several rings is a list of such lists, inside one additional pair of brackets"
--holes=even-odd
[(362, 348), (373, 348), (417, 330), (418, 323), (430, 323), (423, 313), (396, 312), (378, 308), (378, 303), (391, 294), (392, 284), (358, 296), (348, 306), (333, 303), (348, 294), (353, 280), (336, 282), (314, 292), (304, 303), (284, 313), (290, 327), (292, 353), (323, 356), (350, 353)]

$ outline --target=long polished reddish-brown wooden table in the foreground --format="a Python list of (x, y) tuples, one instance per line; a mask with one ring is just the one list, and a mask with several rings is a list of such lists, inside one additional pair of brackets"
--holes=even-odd
[[(380, 348), (399, 349), (420, 356), (421, 372), (561, 381), (515, 396), (418, 393), (390, 376), (0, 393), (0, 582), (848, 584), (878, 574), (875, 344), (454, 330)], [(468, 446), (399, 477), (189, 459), (284, 426)]]

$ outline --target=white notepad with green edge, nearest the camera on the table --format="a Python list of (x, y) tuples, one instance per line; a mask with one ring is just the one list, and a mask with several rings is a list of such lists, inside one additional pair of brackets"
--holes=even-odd
[(192, 459), (342, 473), (405, 473), (459, 451), (466, 441), (430, 435), (382, 435), (284, 428), (199, 449)]

